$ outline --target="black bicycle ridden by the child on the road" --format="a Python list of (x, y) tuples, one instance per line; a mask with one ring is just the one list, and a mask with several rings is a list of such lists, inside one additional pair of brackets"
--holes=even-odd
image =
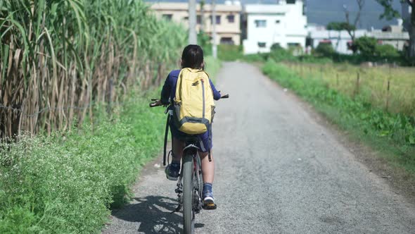
[[(229, 94), (221, 97), (221, 99), (229, 98)], [(162, 106), (158, 103), (158, 99), (151, 99), (155, 101), (150, 104), (150, 107)], [(169, 112), (167, 107), (166, 113)], [(168, 123), (170, 121), (170, 113), (167, 115), (166, 135), (165, 135), (165, 152), (167, 145)], [(172, 213), (183, 212), (183, 230), (184, 233), (194, 233), (196, 214), (199, 214), (202, 209), (216, 209), (216, 204), (208, 204), (203, 206), (202, 192), (203, 192), (203, 176), (202, 164), (198, 156), (199, 148), (196, 146), (198, 138), (196, 136), (189, 136), (185, 139), (185, 147), (183, 149), (183, 156), (181, 158), (181, 171), (177, 181), (177, 188), (174, 190), (177, 193), (179, 205)], [(170, 152), (171, 153), (171, 152)], [(170, 156), (169, 153), (169, 156)], [(210, 155), (209, 155), (210, 156)], [(168, 157), (168, 156), (167, 156)], [(166, 153), (163, 156), (163, 165), (166, 166)]]

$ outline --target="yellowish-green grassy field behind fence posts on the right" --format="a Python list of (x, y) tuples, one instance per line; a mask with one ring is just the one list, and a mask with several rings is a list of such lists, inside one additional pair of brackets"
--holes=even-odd
[(361, 99), (377, 108), (415, 116), (415, 68), (368, 68), (347, 63), (286, 65), (303, 78), (322, 79), (326, 85), (349, 97), (358, 94)]

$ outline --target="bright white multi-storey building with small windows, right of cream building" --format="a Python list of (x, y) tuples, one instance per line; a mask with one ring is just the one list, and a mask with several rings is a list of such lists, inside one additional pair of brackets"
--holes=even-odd
[(272, 45), (305, 48), (307, 16), (301, 0), (276, 4), (247, 4), (243, 10), (245, 54), (269, 52)]

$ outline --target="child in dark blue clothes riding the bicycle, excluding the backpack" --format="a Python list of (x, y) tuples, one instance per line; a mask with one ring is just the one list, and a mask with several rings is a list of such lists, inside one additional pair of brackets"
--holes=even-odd
[[(181, 54), (181, 68), (191, 68), (200, 71), (204, 70), (204, 67), (205, 62), (203, 60), (202, 48), (196, 44), (189, 44), (187, 47), (185, 47), (183, 53)], [(167, 75), (165, 84), (162, 87), (161, 99), (157, 104), (172, 104), (172, 101), (176, 97), (177, 80), (180, 73), (181, 70), (172, 70), (169, 75)], [(219, 100), (221, 98), (221, 94), (216, 90), (210, 79), (209, 83), (212, 89), (213, 99)], [(170, 109), (173, 108), (172, 106), (173, 105), (170, 105)], [(172, 132), (172, 162), (165, 168), (165, 173), (169, 180), (177, 180), (179, 178), (181, 156), (185, 146), (184, 139), (189, 137), (189, 135), (181, 132), (181, 130), (177, 128), (177, 125), (174, 124), (172, 119), (169, 125)], [(205, 133), (201, 133), (196, 136), (198, 137), (198, 154), (202, 161), (203, 204), (214, 204), (215, 202), (212, 194), (212, 183), (215, 173), (215, 164), (211, 152), (212, 130), (211, 128), (208, 128)]]

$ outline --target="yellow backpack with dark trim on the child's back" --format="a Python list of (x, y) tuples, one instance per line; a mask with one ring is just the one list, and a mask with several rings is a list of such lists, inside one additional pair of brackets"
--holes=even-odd
[(208, 131), (215, 113), (208, 73), (181, 69), (173, 104), (173, 120), (181, 132), (195, 135)]

